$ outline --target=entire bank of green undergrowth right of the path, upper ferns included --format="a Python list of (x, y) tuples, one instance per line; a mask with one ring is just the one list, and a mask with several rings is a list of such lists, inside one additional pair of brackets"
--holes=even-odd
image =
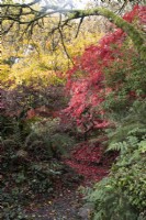
[(108, 152), (120, 153), (110, 175), (88, 194), (93, 220), (146, 219), (146, 102), (136, 100), (122, 123), (108, 130)]

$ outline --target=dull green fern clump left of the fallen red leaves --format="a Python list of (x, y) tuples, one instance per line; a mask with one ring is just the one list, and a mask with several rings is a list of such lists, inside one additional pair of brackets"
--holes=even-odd
[(42, 154), (46, 158), (67, 154), (69, 146), (75, 141), (58, 129), (58, 119), (45, 119), (44, 121), (32, 124), (32, 131), (26, 136), (24, 148), (34, 151), (35, 155)]

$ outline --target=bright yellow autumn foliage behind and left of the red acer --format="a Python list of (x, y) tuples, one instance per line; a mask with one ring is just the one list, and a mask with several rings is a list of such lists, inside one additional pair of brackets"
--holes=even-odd
[[(75, 29), (66, 28), (63, 31), (65, 50), (59, 33), (55, 33), (54, 38), (47, 36), (50, 25), (57, 22), (54, 18), (49, 26), (48, 22), (46, 23), (47, 29), (44, 31), (37, 28), (29, 44), (27, 40), (24, 40), (18, 44), (19, 46), (16, 45), (16, 50), (18, 47), (20, 50), (16, 51), (11, 45), (9, 50), (7, 48), (7, 52), (11, 51), (11, 56), (18, 57), (10, 69), (9, 79), (14, 80), (15, 84), (27, 85), (32, 81), (34, 84), (43, 81), (45, 85), (63, 84), (66, 80), (66, 72), (72, 66), (74, 57), (81, 55), (85, 47), (97, 44), (103, 35), (82, 28), (78, 37), (75, 37)], [(75, 28), (77, 23), (72, 25)]]

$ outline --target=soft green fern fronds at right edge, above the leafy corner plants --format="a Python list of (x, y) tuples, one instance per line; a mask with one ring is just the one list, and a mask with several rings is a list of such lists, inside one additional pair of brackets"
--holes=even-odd
[[(112, 119), (114, 121), (114, 118)], [(146, 101), (135, 101), (126, 117), (116, 121), (115, 129), (106, 130), (109, 144), (125, 141), (127, 136), (136, 136), (139, 141), (146, 135)]]

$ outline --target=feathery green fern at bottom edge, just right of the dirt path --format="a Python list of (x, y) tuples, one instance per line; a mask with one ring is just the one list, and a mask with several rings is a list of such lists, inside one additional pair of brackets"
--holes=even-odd
[(94, 205), (92, 220), (137, 220), (126, 195), (114, 187), (112, 178), (104, 178), (96, 185), (89, 201)]

